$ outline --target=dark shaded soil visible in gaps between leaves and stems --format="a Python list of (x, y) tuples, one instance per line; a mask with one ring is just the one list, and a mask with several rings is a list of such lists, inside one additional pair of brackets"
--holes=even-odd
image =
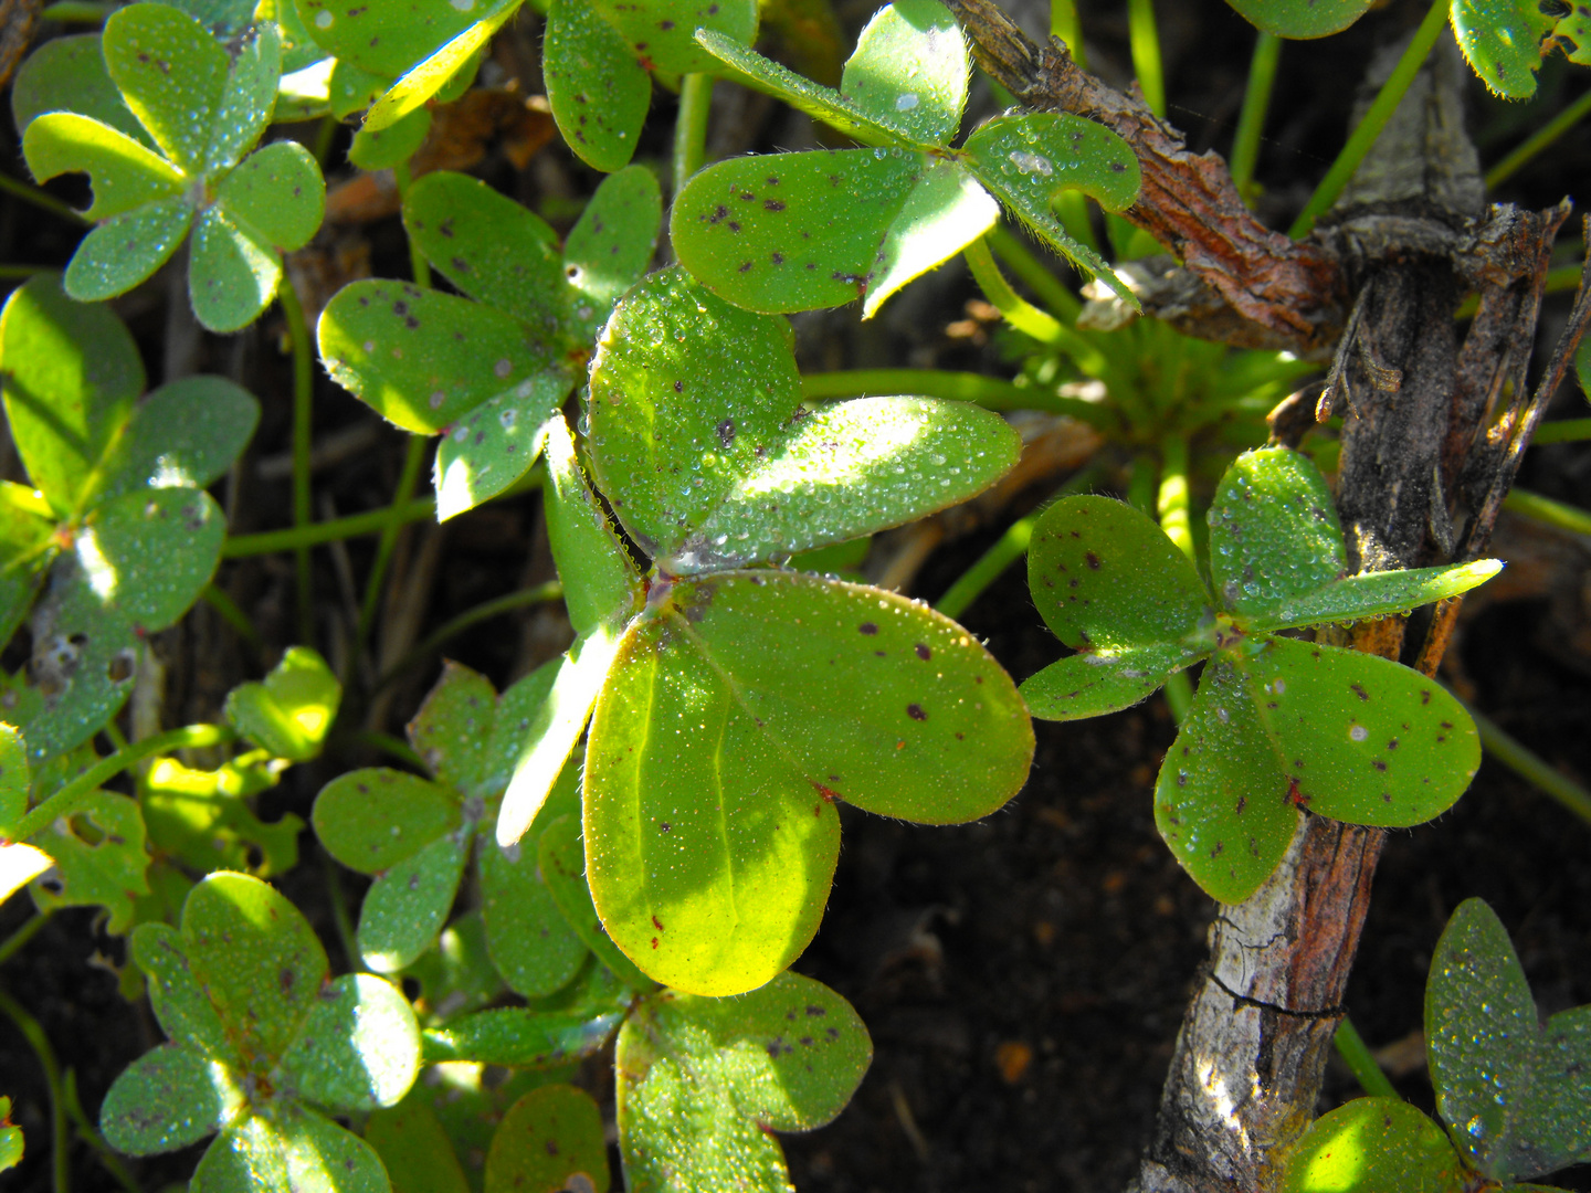
[[(870, 0), (840, 6), (851, 25), (870, 8)], [(1125, 5), (1114, 0), (1083, 6), (1085, 27), (1098, 29), (1095, 65), (1112, 81), (1128, 73), (1118, 10)], [(1195, 146), (1225, 150), (1252, 35), (1216, 0), (1161, 10), (1177, 105), (1173, 119), (1190, 130)], [(1351, 84), (1368, 49), (1422, 10), (1422, 3), (1400, 0), (1341, 38), (1289, 48), (1273, 140), (1260, 165), (1270, 188), (1266, 205), (1278, 223), (1297, 208), (1335, 153)], [(1488, 162), (1583, 86), (1562, 67), (1558, 62), (1543, 73), (1535, 103), (1507, 107), (1476, 97), (1473, 130)], [(765, 127), (767, 119), (746, 124), (751, 130), (737, 134), (738, 143), (721, 151), (781, 135)], [(1556, 202), (1591, 177), (1588, 159), (1591, 135), (1581, 129), (1500, 197)], [(482, 172), (531, 205), (560, 191), (589, 191), (590, 177), (558, 150), (544, 151), (538, 162), (514, 177), (500, 159), (488, 159)], [(21, 173), (14, 154), (5, 169)], [(64, 262), (73, 235), (72, 227), (16, 200), (0, 200), (0, 262)], [(371, 226), (363, 235), (377, 275), (404, 275), (395, 221)], [(151, 377), (161, 375), (173, 342), (165, 293), (158, 280), (119, 304), (145, 345)], [(886, 361), (999, 367), (990, 348), (966, 339), (953, 344), (942, 334), (963, 318), (971, 296), (953, 270), (913, 294), (861, 331), (851, 313), (803, 323), (803, 352), (824, 367)], [(240, 482), (224, 492), (239, 533), (280, 527), (288, 517), (285, 482), (256, 479), (258, 461), (288, 442), (290, 383), (272, 318), (232, 340), (202, 340), (191, 363), (240, 377), (264, 406)], [(1546, 332), (1556, 332), (1553, 318)], [(1566, 394), (1564, 414), (1581, 414), (1580, 401)], [(369, 420), (325, 379), (317, 402), (321, 439)], [(401, 455), (395, 433), (377, 433), (366, 449), (317, 479), (318, 499), (329, 501), (336, 514), (385, 504)], [(6, 457), (11, 476), (8, 445)], [(1591, 507), (1588, 458), (1578, 447), (1537, 452), (1523, 484)], [(1025, 495), (1007, 520), (1041, 496)], [(549, 576), (538, 525), (536, 498), (530, 496), (479, 511), (442, 531), (412, 531), (398, 573), (423, 581), (415, 581), (406, 598), (420, 603), (417, 636), (484, 600)], [(937, 596), (1001, 528), (942, 549), (915, 592)], [(415, 560), (425, 555), (430, 534), (444, 538), (426, 577)], [(1475, 603), (1449, 678), (1548, 762), (1588, 781), (1591, 552), (1567, 538), (1507, 530), (1497, 549), (1518, 560), (1508, 574), (1521, 582), (1503, 596)], [(353, 576), (364, 574), (369, 552), (369, 539), (348, 544)], [(334, 643), (347, 638), (347, 601), (331, 552), (318, 552), (317, 563), (318, 628), (334, 654)], [(288, 560), (226, 565), (220, 581), (255, 617), (267, 644), (293, 641)], [(1018, 679), (1058, 654), (1020, 568), (963, 620)], [(457, 638), (447, 652), (501, 686), (562, 651), (566, 635), (555, 611), (523, 612)], [(228, 687), (256, 678), (266, 662), (207, 608), (169, 635), (162, 651), (172, 666), (170, 724), (215, 717)], [(401, 732), (434, 674), (431, 659), (391, 689), (379, 709), (379, 727)], [(355, 694), (345, 721), (358, 724), (368, 713), (369, 701)], [(845, 816), (829, 911), (799, 969), (854, 1002), (872, 1031), (875, 1059), (835, 1125), (786, 1141), (803, 1193), (1112, 1191), (1126, 1185), (1150, 1131), (1214, 911), (1161, 845), (1150, 814), (1155, 770), (1173, 735), (1158, 698), (1099, 721), (1039, 724), (1028, 787), (980, 824), (926, 829)], [(368, 748), (340, 741), (320, 764), (290, 771), (283, 786), (264, 797), (261, 811), (266, 819), (285, 811), (307, 818), (323, 781), (371, 760)], [(304, 862), (282, 886), (315, 919), (333, 964), (342, 967), (325, 873), (309, 835), (304, 849)], [(1488, 899), (1513, 934), (1543, 1012), (1591, 1002), (1591, 826), (1488, 762), (1451, 813), (1389, 840), (1348, 1002), (1373, 1047), (1402, 1042), (1402, 1067), (1397, 1056), (1389, 1058), (1402, 1074), (1398, 1088), (1427, 1107), (1430, 1088), (1410, 1037), (1421, 1028), (1432, 946), (1451, 910), (1470, 896)], [(25, 897), (0, 910), (0, 940), (30, 911)], [(75, 1075), (89, 1118), (116, 1074), (159, 1042), (146, 1005), (129, 1005), (118, 994), (111, 967), (119, 959), (121, 943), (97, 932), (91, 913), (67, 911), (0, 970), (0, 985), (38, 1018), (62, 1067)], [(1354, 1091), (1346, 1072), (1333, 1072), (1322, 1109)], [(45, 1086), (32, 1050), (5, 1020), (0, 1094), (16, 1099), (14, 1117), (29, 1141), (27, 1161), (0, 1177), (0, 1188), (45, 1193), (51, 1188)], [(154, 1190), (186, 1179), (196, 1155), (135, 1163), (132, 1169)], [(72, 1152), (72, 1174), (76, 1193), (116, 1188), (81, 1144)], [(1591, 1169), (1561, 1174), (1559, 1180), (1591, 1190)]]

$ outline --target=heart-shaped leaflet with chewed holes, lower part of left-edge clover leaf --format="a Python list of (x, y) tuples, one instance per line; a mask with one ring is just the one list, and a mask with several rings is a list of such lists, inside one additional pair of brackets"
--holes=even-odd
[(226, 519), (208, 493), (124, 493), (84, 519), (33, 611), (33, 660), (11, 719), (33, 760), (88, 740), (132, 689), (138, 641), (215, 574)]

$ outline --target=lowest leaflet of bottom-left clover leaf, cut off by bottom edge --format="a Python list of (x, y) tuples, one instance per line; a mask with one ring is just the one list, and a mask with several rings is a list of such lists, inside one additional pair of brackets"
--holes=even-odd
[(234, 1123), (210, 1144), (189, 1193), (390, 1193), (375, 1150), (290, 1101)]

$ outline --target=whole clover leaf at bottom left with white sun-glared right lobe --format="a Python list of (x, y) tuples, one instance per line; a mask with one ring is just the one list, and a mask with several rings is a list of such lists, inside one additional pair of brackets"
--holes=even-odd
[(369, 1110), (414, 1083), (420, 1032), (403, 994), (369, 973), (329, 980), (304, 916), (256, 878), (213, 873), (181, 929), (142, 924), (132, 956), (170, 1037), (111, 1085), (107, 1141), (151, 1155), (220, 1133), (194, 1188), (385, 1191), (361, 1139), (307, 1104)]

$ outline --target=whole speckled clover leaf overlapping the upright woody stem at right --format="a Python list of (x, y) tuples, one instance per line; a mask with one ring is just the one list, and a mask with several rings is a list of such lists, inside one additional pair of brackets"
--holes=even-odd
[(1209, 562), (1214, 595), (1138, 511), (1056, 503), (1034, 527), (1028, 584), (1076, 654), (1021, 686), (1034, 716), (1071, 721), (1134, 705), (1209, 660), (1155, 787), (1155, 824), (1204, 891), (1230, 903), (1252, 894), (1298, 808), (1403, 827), (1459, 799), (1480, 740), (1451, 695), (1384, 659), (1274, 635), (1454, 596), (1500, 563), (1344, 577), (1332, 495), (1287, 449), (1247, 452), (1222, 477)]

